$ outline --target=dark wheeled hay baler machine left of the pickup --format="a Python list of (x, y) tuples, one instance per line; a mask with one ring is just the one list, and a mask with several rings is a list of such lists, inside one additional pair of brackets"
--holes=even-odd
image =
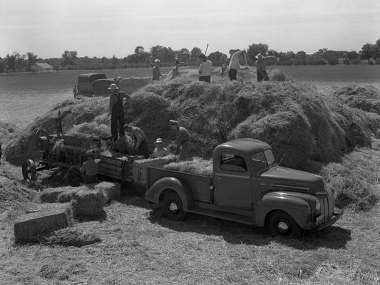
[[(68, 185), (79, 185), (82, 181), (80, 167), (86, 160), (87, 151), (83, 145), (92, 145), (99, 150), (102, 138), (88, 136), (86, 141), (83, 141), (83, 138), (63, 135), (61, 143), (57, 143), (58, 140), (57, 135), (49, 135), (43, 129), (36, 130), (34, 142), (38, 152), (41, 152), (42, 159), (38, 162), (30, 159), (24, 160), (22, 164), (24, 180), (36, 180), (37, 172), (56, 168), (50, 177), (61, 170), (68, 170), (65, 175)], [(98, 164), (98, 175), (122, 182), (133, 180), (133, 161), (143, 158), (140, 155), (125, 155), (120, 152), (112, 152), (111, 155), (98, 155), (98, 157), (101, 160)]]

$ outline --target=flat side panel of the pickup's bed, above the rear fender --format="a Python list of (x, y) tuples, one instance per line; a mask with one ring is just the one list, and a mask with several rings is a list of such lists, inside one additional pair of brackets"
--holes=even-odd
[(192, 173), (165, 170), (163, 168), (148, 167), (148, 189), (158, 180), (165, 177), (175, 177), (185, 182), (192, 192), (192, 199), (196, 202), (212, 203), (212, 176), (195, 175)]

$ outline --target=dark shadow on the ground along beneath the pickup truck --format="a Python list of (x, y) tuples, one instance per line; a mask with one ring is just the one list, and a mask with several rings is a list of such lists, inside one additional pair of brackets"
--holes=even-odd
[(301, 250), (317, 250), (321, 247), (329, 249), (344, 249), (351, 240), (351, 231), (342, 227), (332, 226), (321, 232), (304, 232), (299, 239), (273, 237), (267, 229), (253, 227), (247, 224), (225, 221), (200, 214), (188, 214), (187, 219), (181, 222), (166, 219), (158, 209), (150, 211), (150, 222), (160, 224), (162, 227), (173, 229), (176, 232), (196, 232), (222, 237), (230, 244), (247, 244), (262, 246), (272, 242), (286, 244), (288, 247)]

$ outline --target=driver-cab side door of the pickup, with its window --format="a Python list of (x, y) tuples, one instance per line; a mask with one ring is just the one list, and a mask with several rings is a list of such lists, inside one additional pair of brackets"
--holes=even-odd
[(215, 205), (252, 211), (251, 172), (244, 157), (223, 152), (214, 178)]

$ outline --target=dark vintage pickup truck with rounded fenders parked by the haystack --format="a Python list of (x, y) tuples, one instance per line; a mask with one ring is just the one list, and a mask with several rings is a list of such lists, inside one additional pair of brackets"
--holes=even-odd
[(169, 219), (191, 212), (287, 237), (329, 227), (343, 214), (324, 177), (279, 166), (266, 142), (249, 138), (218, 145), (210, 176), (148, 167), (147, 188), (145, 198)]

